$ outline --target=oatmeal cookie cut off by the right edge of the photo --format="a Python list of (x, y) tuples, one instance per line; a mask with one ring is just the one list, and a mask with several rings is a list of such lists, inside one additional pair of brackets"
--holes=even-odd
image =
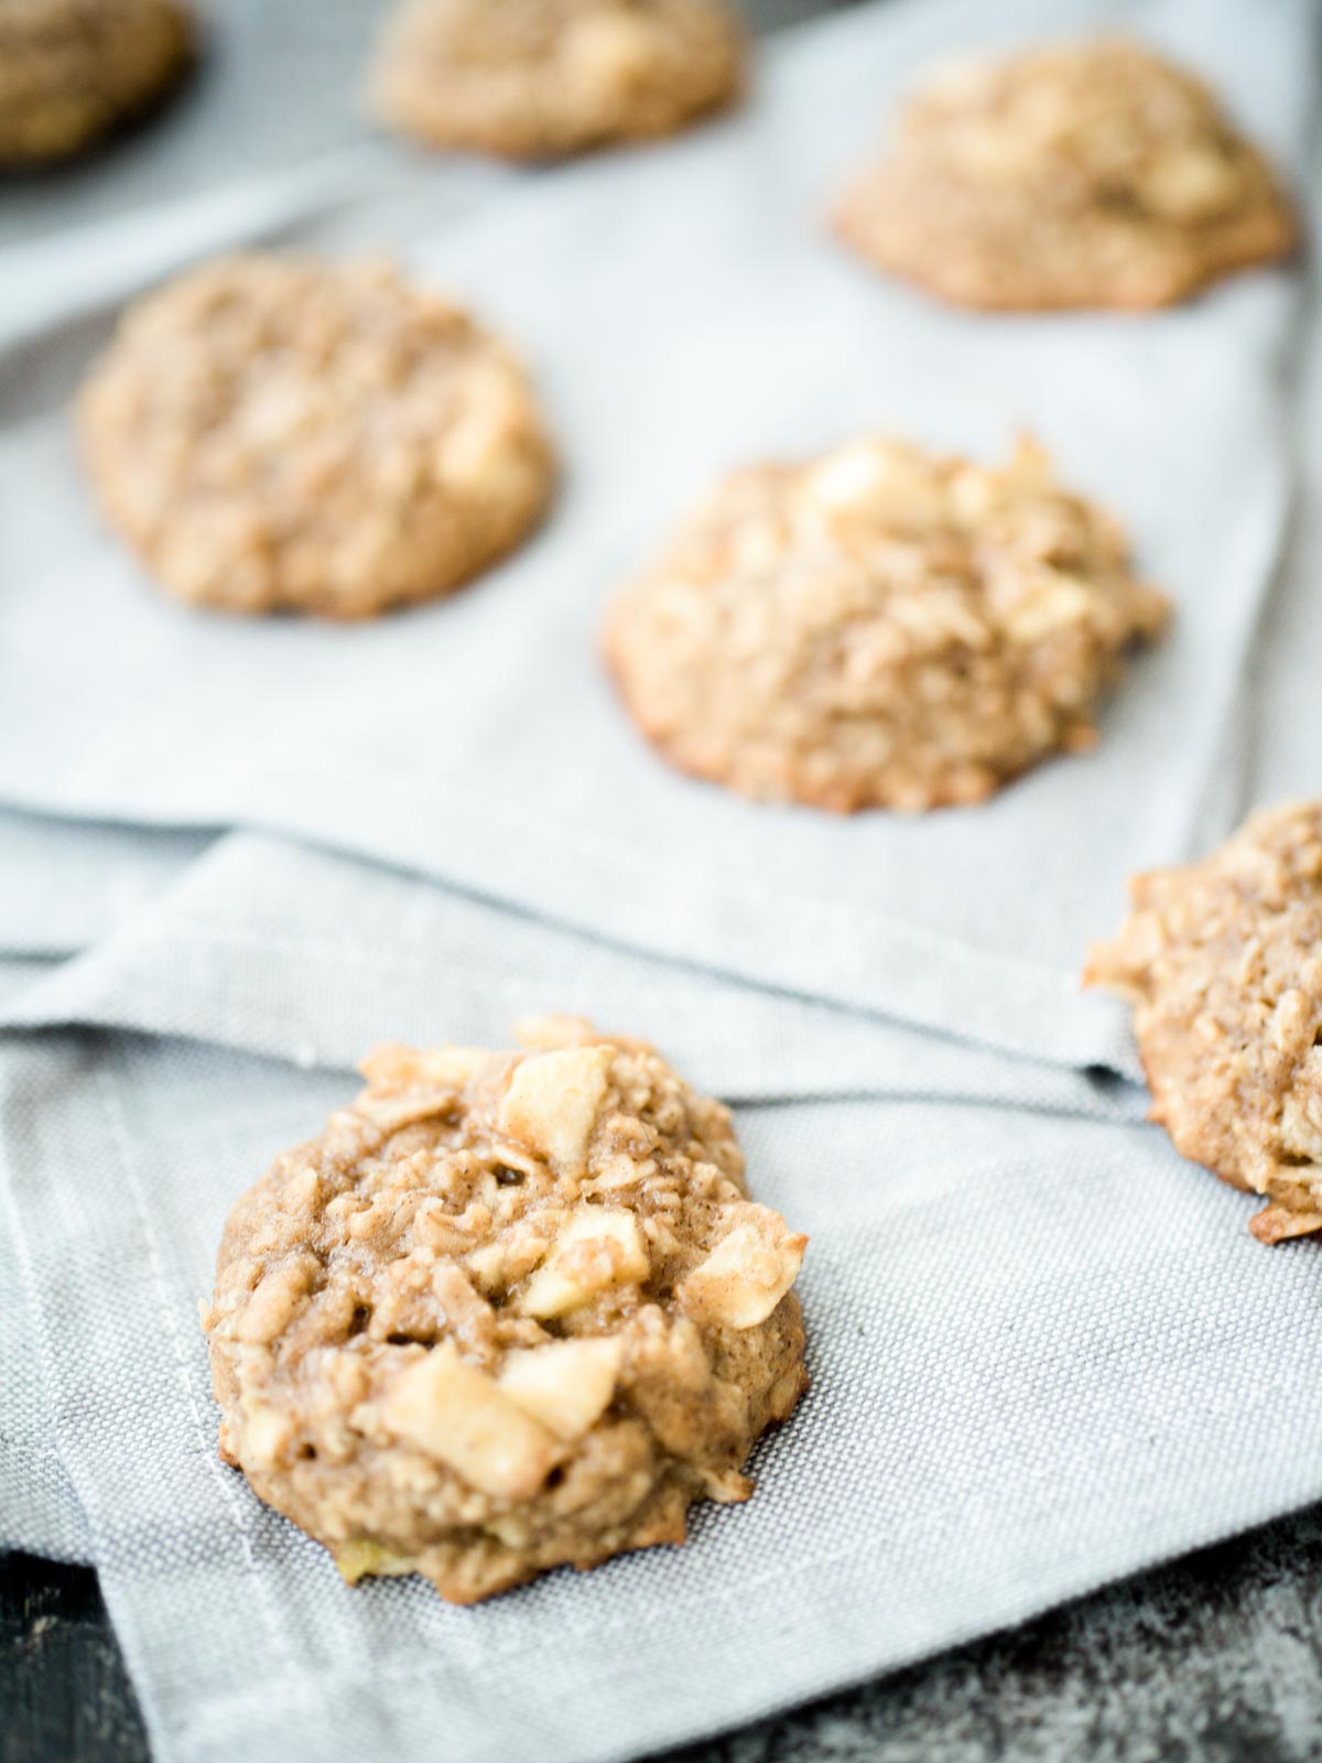
[(1260, 809), (1130, 894), (1084, 978), (1133, 1003), (1151, 1118), (1267, 1199), (1250, 1224), (1264, 1243), (1322, 1231), (1322, 802)]

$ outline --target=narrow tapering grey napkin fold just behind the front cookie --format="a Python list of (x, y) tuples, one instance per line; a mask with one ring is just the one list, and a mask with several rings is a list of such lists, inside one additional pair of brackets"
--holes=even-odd
[[(682, 1044), (724, 1097), (906, 1095), (1137, 1118), (1109, 1072), (1014, 1060), (788, 993), (657, 963), (430, 882), (229, 834), (152, 910), (0, 1005), (0, 1028), (187, 1035), (303, 1068), (377, 1040), (502, 1045), (518, 1015), (576, 1012)], [(1128, 1065), (1137, 1075), (1137, 1063)]]

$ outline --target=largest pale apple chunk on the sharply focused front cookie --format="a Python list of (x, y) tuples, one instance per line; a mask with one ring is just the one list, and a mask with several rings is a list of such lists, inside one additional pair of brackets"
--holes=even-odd
[(531, 1499), (564, 1456), (559, 1440), (460, 1359), (453, 1342), (411, 1365), (377, 1412), (405, 1444), (502, 1500)]

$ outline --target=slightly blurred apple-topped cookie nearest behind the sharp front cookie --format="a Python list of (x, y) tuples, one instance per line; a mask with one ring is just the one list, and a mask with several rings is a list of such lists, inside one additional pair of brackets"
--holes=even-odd
[(615, 601), (605, 649), (684, 770), (925, 809), (1091, 746), (1121, 652), (1167, 610), (1031, 443), (984, 469), (865, 439), (721, 483)]

